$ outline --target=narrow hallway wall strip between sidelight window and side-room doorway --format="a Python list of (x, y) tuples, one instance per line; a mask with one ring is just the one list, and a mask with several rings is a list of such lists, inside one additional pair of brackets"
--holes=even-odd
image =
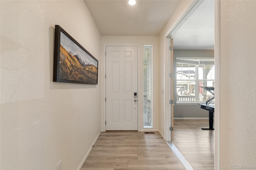
[(166, 133), (170, 132), (164, 128), (166, 120), (168, 120), (168, 117), (166, 117), (166, 114), (168, 114), (167, 108), (170, 107), (167, 96), (169, 81), (169, 50), (166, 50), (167, 47), (164, 46), (165, 42), (168, 44), (166, 34), (175, 26), (193, 2), (193, 0), (181, 0), (167, 24), (159, 34), (159, 91), (164, 90), (164, 93), (159, 93), (159, 130), (164, 136), (166, 136)]

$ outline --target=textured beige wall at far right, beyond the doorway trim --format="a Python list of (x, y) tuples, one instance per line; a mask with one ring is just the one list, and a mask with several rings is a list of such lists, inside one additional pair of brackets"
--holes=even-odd
[(220, 1), (220, 169), (256, 167), (255, 9)]

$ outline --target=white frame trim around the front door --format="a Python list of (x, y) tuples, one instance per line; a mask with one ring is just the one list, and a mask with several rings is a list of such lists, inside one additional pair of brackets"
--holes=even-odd
[[(137, 46), (137, 95), (140, 95), (140, 88), (139, 88), (139, 80), (140, 80), (140, 74), (139, 74), (139, 65), (140, 65), (140, 44), (138, 43), (104, 43), (103, 44), (103, 132), (106, 131), (106, 125), (105, 125), (105, 121), (106, 121), (106, 102), (105, 102), (105, 98), (106, 98), (106, 79), (105, 79), (105, 75), (106, 75), (106, 46)], [(142, 90), (143, 91), (143, 90)], [(142, 98), (142, 99), (140, 99)], [(138, 121), (138, 131), (140, 131), (140, 103), (143, 103), (143, 97), (138, 97), (138, 109), (137, 109), (137, 121)], [(143, 108), (143, 105), (142, 105)]]

